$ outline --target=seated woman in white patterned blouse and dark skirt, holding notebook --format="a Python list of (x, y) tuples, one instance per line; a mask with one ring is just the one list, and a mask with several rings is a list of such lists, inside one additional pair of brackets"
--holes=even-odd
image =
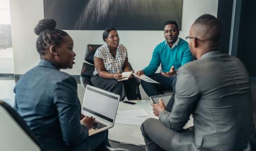
[[(121, 73), (131, 71), (128, 63), (127, 50), (119, 45), (119, 36), (114, 28), (103, 32), (103, 41), (106, 44), (99, 47), (94, 55), (95, 71), (91, 81), (95, 87), (120, 95), (129, 100), (141, 99), (138, 84), (135, 78), (118, 81)], [(134, 71), (132, 71), (134, 72)]]

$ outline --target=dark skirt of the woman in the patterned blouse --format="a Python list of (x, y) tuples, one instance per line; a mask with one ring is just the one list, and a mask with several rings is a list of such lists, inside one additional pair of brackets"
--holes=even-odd
[(139, 82), (135, 78), (117, 81), (116, 79), (106, 79), (99, 77), (99, 75), (92, 75), (91, 82), (94, 87), (120, 95), (121, 101), (125, 97), (128, 100), (141, 99)]

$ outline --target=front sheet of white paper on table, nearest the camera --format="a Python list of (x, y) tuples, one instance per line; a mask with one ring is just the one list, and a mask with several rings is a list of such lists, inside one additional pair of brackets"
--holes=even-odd
[(144, 117), (117, 115), (115, 122), (122, 124), (141, 125), (145, 121), (145, 119), (146, 118)]

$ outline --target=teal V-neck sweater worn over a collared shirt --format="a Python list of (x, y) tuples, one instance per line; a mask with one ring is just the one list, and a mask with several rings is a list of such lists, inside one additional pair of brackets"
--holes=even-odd
[(183, 64), (192, 61), (193, 57), (185, 40), (180, 38), (176, 47), (170, 49), (166, 41), (161, 42), (153, 51), (150, 64), (143, 69), (145, 75), (154, 74), (160, 63), (163, 72), (169, 72), (174, 66), (175, 70), (179, 69)]

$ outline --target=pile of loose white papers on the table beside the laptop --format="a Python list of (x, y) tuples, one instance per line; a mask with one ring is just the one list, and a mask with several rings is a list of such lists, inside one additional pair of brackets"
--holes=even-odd
[(148, 114), (143, 109), (118, 111), (115, 122), (122, 124), (141, 125), (146, 118), (140, 116), (148, 116)]

